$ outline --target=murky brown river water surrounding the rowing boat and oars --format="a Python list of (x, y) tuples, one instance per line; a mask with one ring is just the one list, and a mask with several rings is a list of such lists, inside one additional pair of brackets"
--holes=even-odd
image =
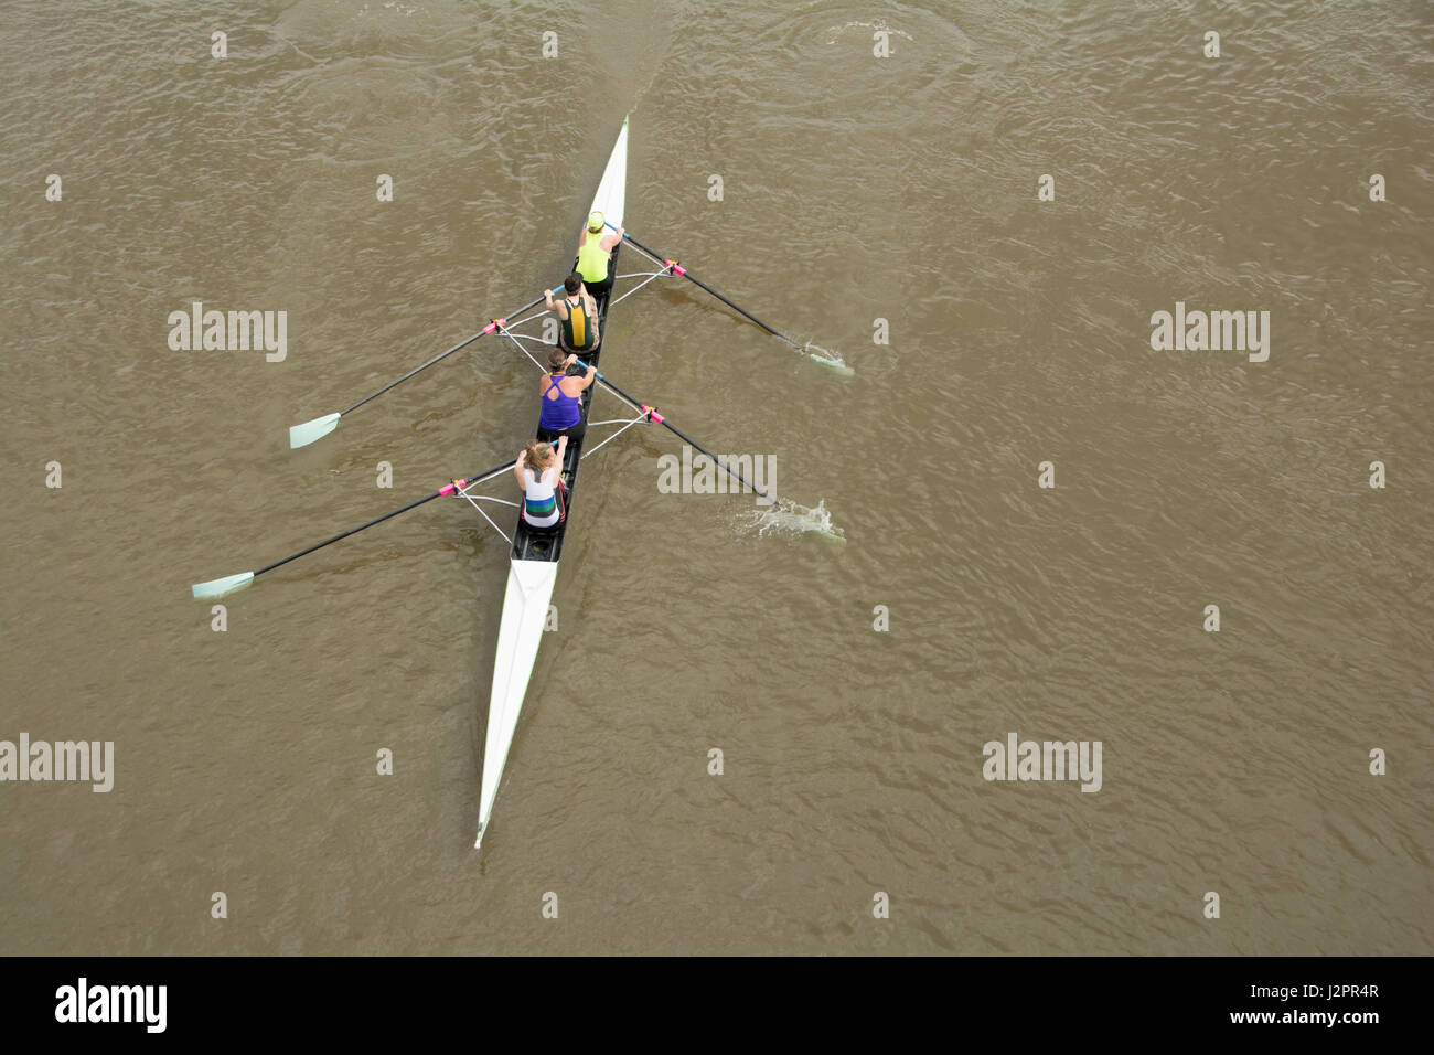
[[(0, 950), (1430, 952), (1425, 4), (6, 23), (0, 739), (115, 761), (0, 784)], [(189, 584), (513, 455), (535, 372), (495, 339), (287, 426), (561, 278), (628, 112), (630, 231), (855, 375), (680, 280), (605, 370), (845, 543), (664, 494), (660, 429), (594, 455), (475, 854), (472, 510), (222, 632)], [(194, 301), (285, 311), (282, 362), (172, 349)], [(1268, 311), (1265, 349), (1153, 349), (1177, 310)], [(1098, 789), (985, 779), (1012, 733), (1098, 741)]]

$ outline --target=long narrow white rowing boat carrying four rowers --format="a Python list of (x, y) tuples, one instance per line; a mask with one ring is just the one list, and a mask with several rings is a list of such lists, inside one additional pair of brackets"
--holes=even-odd
[[(614, 227), (622, 225), (622, 207), (627, 197), (627, 131), (624, 118), (618, 141), (612, 146), (602, 182), (592, 198), (592, 211), (602, 212)], [(615, 274), (621, 245), (612, 250), (611, 274)], [(598, 346), (585, 353), (585, 360), (597, 366), (608, 337), (608, 301), (611, 294), (598, 300)], [(592, 393), (597, 385), (582, 392), (582, 418), (588, 421)], [(568, 515), (555, 531), (532, 531), (518, 515), (513, 533), (513, 548), (509, 554), (508, 589), (503, 593), (503, 617), (498, 629), (498, 653), (493, 656), (493, 688), (488, 700), (488, 738), (483, 745), (483, 791), (478, 810), (478, 838), (473, 847), (483, 845), (493, 815), (493, 801), (498, 798), (498, 784), (503, 778), (503, 765), (518, 729), (518, 716), (528, 693), (533, 663), (538, 660), (538, 646), (542, 642), (543, 626), (548, 622), (548, 604), (554, 584), (558, 581), (558, 558), (562, 555), (564, 535), (572, 522), (572, 500), (578, 482), (578, 462), (582, 458), (582, 439), (568, 441), (562, 478), (568, 485)]]

